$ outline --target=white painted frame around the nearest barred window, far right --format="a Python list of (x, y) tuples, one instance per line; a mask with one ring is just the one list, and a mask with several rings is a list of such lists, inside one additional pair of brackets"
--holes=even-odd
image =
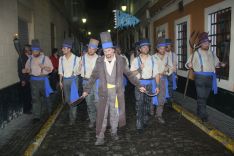
[(231, 43), (230, 43), (230, 57), (229, 57), (229, 63), (230, 63), (230, 69), (229, 69), (229, 80), (220, 80), (218, 81), (218, 87), (229, 90), (231, 92), (234, 92), (234, 1), (233, 0), (225, 0), (223, 2), (217, 3), (215, 5), (212, 5), (205, 9), (204, 11), (204, 30), (206, 32), (209, 32), (209, 25), (210, 21), (208, 20), (208, 14), (225, 9), (227, 7), (232, 7), (232, 14), (231, 14)]

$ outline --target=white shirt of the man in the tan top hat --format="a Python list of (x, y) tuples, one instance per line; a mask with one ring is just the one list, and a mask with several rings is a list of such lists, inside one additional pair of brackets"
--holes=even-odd
[[(94, 69), (94, 66), (96, 64), (96, 60), (98, 58), (97, 54), (94, 54), (93, 56), (89, 56), (87, 53), (82, 58), (82, 68), (81, 68), (81, 76), (83, 78), (90, 78), (92, 71)], [(85, 61), (84, 61), (85, 60)], [(84, 64), (85, 63), (85, 64)], [(84, 70), (85, 68), (85, 70)], [(84, 73), (86, 72), (86, 73)]]

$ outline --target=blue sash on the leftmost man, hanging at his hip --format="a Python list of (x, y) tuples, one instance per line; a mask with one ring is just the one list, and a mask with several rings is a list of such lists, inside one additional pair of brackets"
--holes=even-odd
[(32, 76), (30, 77), (32, 81), (44, 81), (44, 88), (45, 88), (45, 96), (49, 97), (53, 90), (50, 86), (49, 79), (47, 76)]

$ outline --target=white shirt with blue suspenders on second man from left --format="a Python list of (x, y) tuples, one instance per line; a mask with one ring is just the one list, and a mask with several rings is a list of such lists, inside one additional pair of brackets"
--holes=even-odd
[[(74, 65), (75, 57), (76, 57), (76, 62)], [(58, 72), (60, 75), (64, 77), (76, 76), (79, 73), (78, 71), (79, 63), (80, 63), (80, 57), (77, 57), (74, 54), (71, 54), (71, 56), (67, 59), (66, 56), (64, 55), (59, 58)], [(62, 69), (62, 66), (63, 66), (63, 69)]]

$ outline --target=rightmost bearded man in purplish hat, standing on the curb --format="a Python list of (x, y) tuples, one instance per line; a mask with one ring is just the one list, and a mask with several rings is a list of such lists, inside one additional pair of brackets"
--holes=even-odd
[[(210, 40), (208, 33), (203, 32), (199, 36), (199, 48), (191, 55), (185, 64), (186, 68), (193, 69), (195, 74), (195, 85), (197, 92), (197, 115), (203, 122), (208, 121), (206, 112), (206, 101), (209, 97), (211, 89), (217, 94), (217, 80), (215, 68), (224, 67), (224, 63), (220, 63), (216, 54), (210, 51)], [(193, 56), (193, 60), (192, 60)]]

